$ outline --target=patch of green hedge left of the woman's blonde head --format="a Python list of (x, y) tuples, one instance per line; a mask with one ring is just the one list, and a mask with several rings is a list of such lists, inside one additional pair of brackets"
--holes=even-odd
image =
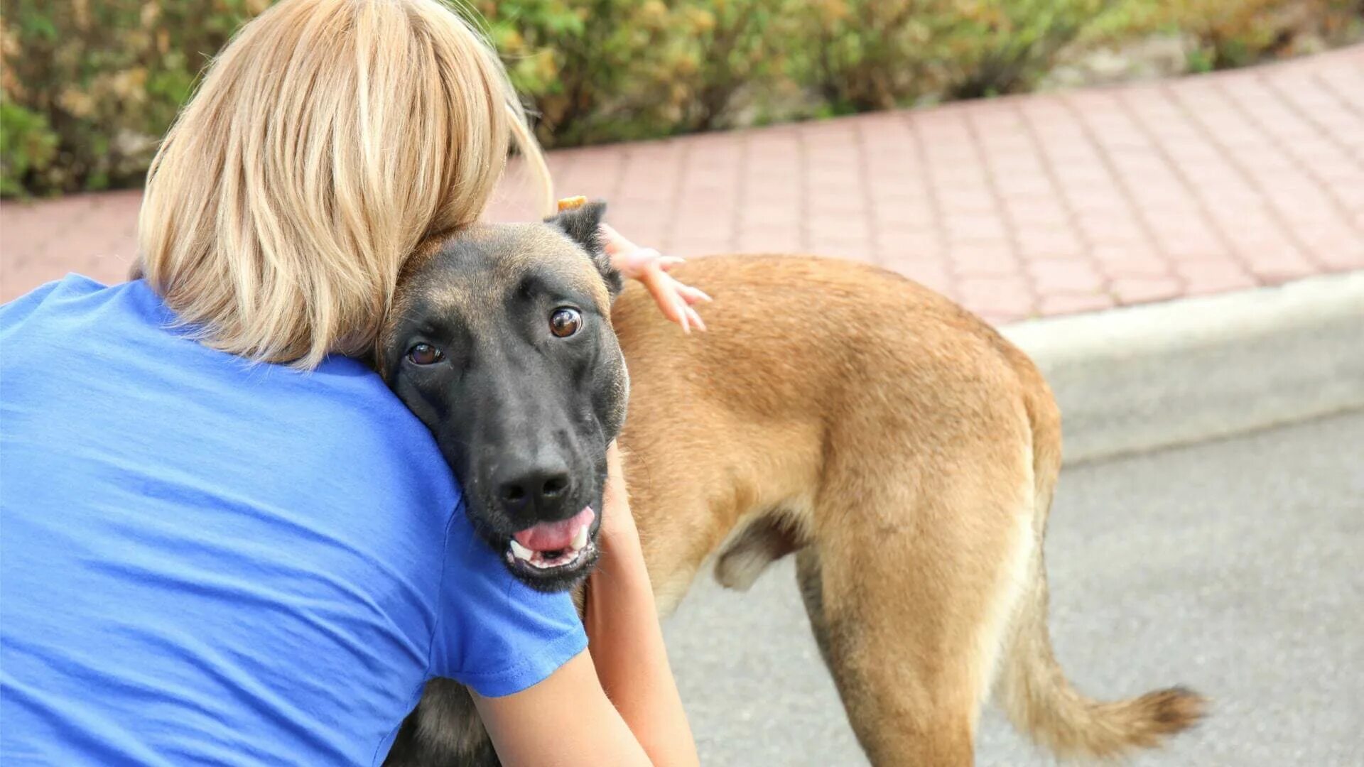
[(267, 4), (4, 0), (4, 194), (136, 183), (209, 56)]

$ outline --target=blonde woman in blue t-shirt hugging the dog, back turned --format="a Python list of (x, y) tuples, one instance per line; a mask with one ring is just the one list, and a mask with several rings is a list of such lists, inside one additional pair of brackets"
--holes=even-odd
[[(513, 138), (543, 176), (496, 56), (438, 1), (284, 0), (166, 136), (145, 278), (0, 308), (0, 762), (375, 764), (436, 676), (506, 763), (696, 762), (619, 461), (584, 635), (473, 538), (352, 359)], [(612, 248), (698, 319), (664, 259)]]

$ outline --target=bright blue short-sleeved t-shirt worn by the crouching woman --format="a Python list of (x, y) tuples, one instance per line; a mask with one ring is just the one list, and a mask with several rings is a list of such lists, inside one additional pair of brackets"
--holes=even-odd
[(584, 650), (378, 375), (172, 319), (74, 276), (0, 307), (0, 763), (376, 764), (431, 677)]

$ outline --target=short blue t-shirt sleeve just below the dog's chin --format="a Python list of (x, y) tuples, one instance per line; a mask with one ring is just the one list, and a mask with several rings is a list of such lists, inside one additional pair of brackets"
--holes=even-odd
[(588, 646), (569, 594), (517, 580), (473, 532), (464, 506), (446, 530), (431, 674), (484, 697), (521, 692)]

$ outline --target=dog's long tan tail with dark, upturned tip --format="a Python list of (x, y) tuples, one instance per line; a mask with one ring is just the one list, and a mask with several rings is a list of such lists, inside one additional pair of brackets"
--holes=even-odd
[[(1019, 353), (1022, 358), (1022, 353)], [(1020, 375), (1034, 396), (1027, 403), (1033, 422), (1037, 478), (1034, 550), (1027, 587), (1019, 598), (1000, 665), (997, 700), (1013, 726), (1058, 756), (1114, 757), (1133, 748), (1150, 748), (1195, 725), (1207, 701), (1184, 688), (1150, 692), (1129, 700), (1103, 703), (1071, 686), (1046, 628), (1046, 569), (1042, 540), (1052, 493), (1061, 467), (1061, 418), (1049, 389), (1026, 358)]]

